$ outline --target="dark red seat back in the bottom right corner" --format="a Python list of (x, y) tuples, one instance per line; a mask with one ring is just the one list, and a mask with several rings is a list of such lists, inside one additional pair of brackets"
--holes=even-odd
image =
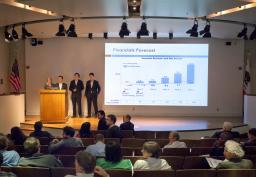
[(218, 169), (216, 177), (255, 177), (255, 169)]

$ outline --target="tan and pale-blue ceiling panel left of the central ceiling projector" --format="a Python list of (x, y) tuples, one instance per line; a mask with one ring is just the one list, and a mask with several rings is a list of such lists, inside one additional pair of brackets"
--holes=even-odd
[(70, 17), (128, 16), (127, 0), (17, 0)]

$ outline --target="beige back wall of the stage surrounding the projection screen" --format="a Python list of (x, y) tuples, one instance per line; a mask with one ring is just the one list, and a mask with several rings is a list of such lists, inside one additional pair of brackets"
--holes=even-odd
[[(232, 45), (227, 46), (226, 41)], [(104, 90), (104, 43), (105, 42), (147, 42), (147, 43), (209, 43), (209, 91), (208, 107), (145, 107), (145, 106), (104, 106), (103, 92), (99, 107), (107, 112), (153, 116), (242, 116), (242, 81), (244, 62), (244, 42), (242, 40), (221, 39), (94, 39), (51, 38), (42, 46), (33, 47), (29, 41), (25, 45), (26, 56), (26, 108), (27, 115), (39, 114), (39, 89), (48, 76), (57, 80), (64, 75), (66, 82), (79, 72), (83, 81), (88, 73), (94, 72)], [(70, 104), (71, 110), (71, 104)], [(85, 102), (83, 109), (86, 109)], [(86, 114), (86, 111), (85, 111)]]

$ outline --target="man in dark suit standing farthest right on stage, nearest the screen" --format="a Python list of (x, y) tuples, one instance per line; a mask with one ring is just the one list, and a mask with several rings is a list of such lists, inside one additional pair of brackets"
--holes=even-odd
[(91, 117), (91, 107), (93, 103), (95, 116), (97, 116), (98, 112), (98, 103), (97, 98), (98, 94), (100, 93), (100, 84), (98, 81), (94, 79), (94, 73), (89, 73), (90, 80), (86, 82), (85, 88), (85, 96), (87, 98), (87, 108), (88, 108), (88, 115), (87, 117)]

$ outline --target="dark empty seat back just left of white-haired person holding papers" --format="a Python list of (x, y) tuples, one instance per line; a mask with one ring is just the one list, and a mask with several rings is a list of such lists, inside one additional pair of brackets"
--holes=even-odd
[(205, 157), (186, 156), (184, 159), (183, 169), (209, 169)]

